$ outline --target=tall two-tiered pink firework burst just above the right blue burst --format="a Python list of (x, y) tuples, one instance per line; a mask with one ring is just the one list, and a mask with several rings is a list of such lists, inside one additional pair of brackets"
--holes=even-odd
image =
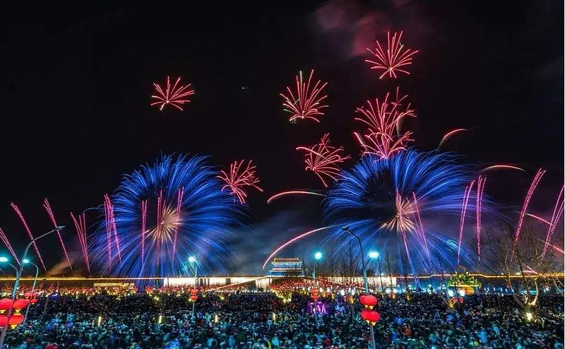
[(398, 87), (396, 88), (396, 100), (389, 101), (391, 93), (386, 93), (381, 102), (375, 98), (374, 104), (367, 100), (367, 107), (357, 108), (362, 117), (355, 120), (367, 125), (364, 134), (355, 133), (357, 141), (363, 148), (363, 155), (373, 154), (381, 159), (389, 158), (391, 155), (406, 149), (406, 143), (413, 141), (410, 136), (412, 132), (400, 131), (400, 121), (404, 117), (416, 117), (414, 110), (410, 109), (410, 103), (403, 108), (402, 102), (408, 95), (400, 97)]

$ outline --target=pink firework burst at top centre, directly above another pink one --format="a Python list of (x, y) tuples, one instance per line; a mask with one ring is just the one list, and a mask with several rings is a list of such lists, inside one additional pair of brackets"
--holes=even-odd
[(290, 86), (287, 87), (287, 95), (280, 93), (280, 96), (285, 99), (283, 102), (284, 110), (290, 112), (290, 122), (296, 122), (297, 119), (312, 119), (315, 122), (320, 122), (318, 117), (323, 115), (321, 110), (327, 105), (322, 105), (322, 102), (327, 95), (322, 95), (323, 88), (328, 83), (321, 83), (317, 81), (313, 88), (310, 88), (314, 70), (310, 72), (307, 83), (304, 83), (302, 78), (302, 71), (296, 76), (296, 91), (293, 93)]

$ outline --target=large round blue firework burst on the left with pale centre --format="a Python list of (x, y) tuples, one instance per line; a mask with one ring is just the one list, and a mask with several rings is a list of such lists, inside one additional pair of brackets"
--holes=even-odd
[(201, 268), (221, 268), (241, 206), (217, 175), (204, 157), (169, 155), (125, 175), (93, 237), (95, 265), (110, 275), (179, 276), (196, 256)]

